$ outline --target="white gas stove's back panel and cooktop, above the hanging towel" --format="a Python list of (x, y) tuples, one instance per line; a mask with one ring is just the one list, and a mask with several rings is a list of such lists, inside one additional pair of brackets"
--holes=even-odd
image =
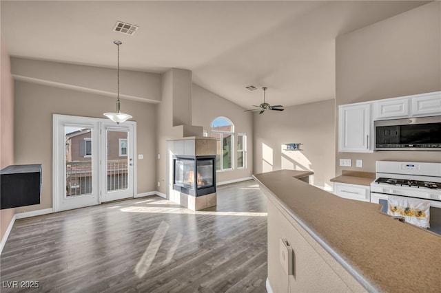
[(377, 161), (371, 202), (380, 203), (388, 195), (428, 199), (441, 208), (441, 163)]

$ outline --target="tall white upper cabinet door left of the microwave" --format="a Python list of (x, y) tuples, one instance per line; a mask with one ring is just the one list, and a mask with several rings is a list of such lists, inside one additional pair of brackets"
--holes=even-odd
[(366, 153), (371, 149), (371, 104), (340, 105), (338, 151)]

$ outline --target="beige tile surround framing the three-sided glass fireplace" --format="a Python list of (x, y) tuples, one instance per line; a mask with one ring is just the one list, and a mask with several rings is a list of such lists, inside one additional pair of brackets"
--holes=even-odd
[[(189, 210), (203, 210), (216, 206), (216, 190), (207, 195), (194, 196), (174, 189), (174, 158), (185, 156), (196, 160), (200, 157), (216, 156), (216, 138), (192, 137), (182, 140), (168, 140), (167, 155), (167, 193), (170, 201)], [(213, 168), (216, 173), (216, 162)], [(216, 186), (216, 175), (214, 175), (213, 184)]]

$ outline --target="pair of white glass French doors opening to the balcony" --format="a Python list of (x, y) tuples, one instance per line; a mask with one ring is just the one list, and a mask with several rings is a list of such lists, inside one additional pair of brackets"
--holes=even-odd
[(134, 197), (136, 122), (54, 115), (54, 211)]

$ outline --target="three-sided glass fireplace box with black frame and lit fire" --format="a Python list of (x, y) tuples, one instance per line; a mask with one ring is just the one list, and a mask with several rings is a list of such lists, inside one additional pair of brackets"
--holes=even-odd
[(215, 155), (174, 155), (173, 189), (196, 197), (216, 192)]

